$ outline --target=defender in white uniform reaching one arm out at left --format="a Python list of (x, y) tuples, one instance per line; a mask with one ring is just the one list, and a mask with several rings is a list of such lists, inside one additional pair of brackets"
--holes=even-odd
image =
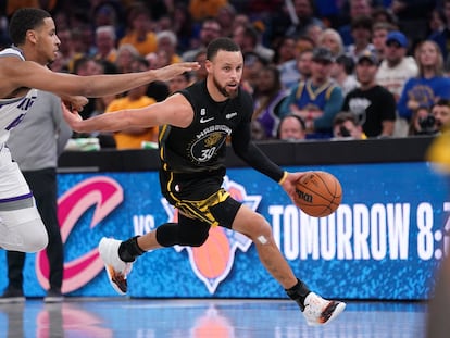
[(100, 76), (53, 73), (47, 64), (55, 59), (60, 40), (50, 14), (39, 9), (17, 10), (10, 22), (10, 37), (14, 45), (0, 51), (0, 247), (35, 252), (47, 246), (47, 231), (5, 141), (35, 102), (36, 89), (54, 92), (80, 110), (87, 102), (85, 97), (123, 92), (198, 66), (179, 63), (142, 73)]

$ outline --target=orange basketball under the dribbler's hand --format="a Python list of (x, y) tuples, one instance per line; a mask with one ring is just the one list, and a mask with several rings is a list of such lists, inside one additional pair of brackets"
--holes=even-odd
[(308, 172), (296, 184), (295, 203), (310, 216), (326, 217), (341, 201), (342, 187), (327, 172)]

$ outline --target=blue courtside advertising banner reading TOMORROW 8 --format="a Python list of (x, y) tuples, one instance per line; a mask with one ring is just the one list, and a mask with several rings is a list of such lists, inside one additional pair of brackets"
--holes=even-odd
[[(324, 297), (427, 299), (436, 268), (450, 249), (449, 180), (428, 163), (291, 166), (326, 171), (343, 190), (328, 217), (292, 205), (284, 190), (251, 168), (230, 168), (224, 187), (261, 213), (295, 274)], [(59, 220), (64, 241), (63, 292), (117, 296), (97, 245), (128, 239), (176, 221), (162, 198), (157, 172), (59, 174)], [(0, 288), (8, 284), (0, 252)], [(45, 251), (28, 254), (24, 290), (45, 295)], [(263, 268), (252, 242), (214, 227), (200, 248), (176, 246), (146, 253), (128, 276), (128, 295), (151, 298), (285, 298)]]

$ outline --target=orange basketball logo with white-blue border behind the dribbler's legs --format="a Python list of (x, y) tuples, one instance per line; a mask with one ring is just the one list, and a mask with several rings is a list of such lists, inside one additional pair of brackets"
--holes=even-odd
[[(223, 187), (232, 197), (251, 210), (257, 210), (261, 202), (260, 195), (248, 196), (243, 186), (224, 178)], [(168, 222), (176, 222), (177, 211), (163, 198), (161, 202), (167, 212)], [(235, 262), (237, 249), (247, 252), (252, 241), (236, 231), (221, 226), (211, 227), (210, 236), (203, 246), (198, 248), (175, 246), (177, 252), (188, 252), (190, 266), (196, 276), (203, 281), (209, 292), (213, 295), (217, 286), (229, 275)]]

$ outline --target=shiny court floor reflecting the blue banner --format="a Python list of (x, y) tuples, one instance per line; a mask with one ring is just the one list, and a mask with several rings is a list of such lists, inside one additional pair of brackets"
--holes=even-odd
[(21, 338), (421, 338), (426, 303), (348, 302), (326, 326), (310, 327), (288, 300), (28, 299), (0, 305), (0, 337)]

